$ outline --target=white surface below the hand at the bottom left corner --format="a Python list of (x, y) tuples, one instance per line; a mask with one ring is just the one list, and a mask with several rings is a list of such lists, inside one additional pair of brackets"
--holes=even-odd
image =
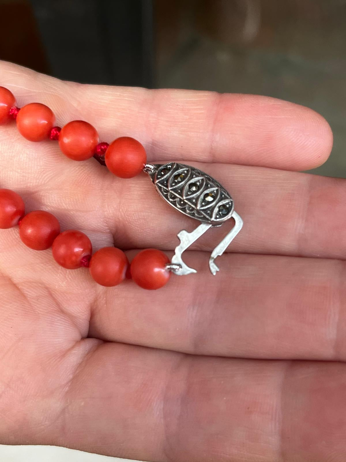
[(5, 446), (0, 444), (1, 462), (140, 462), (98, 456), (89, 452), (58, 448), (56, 446)]

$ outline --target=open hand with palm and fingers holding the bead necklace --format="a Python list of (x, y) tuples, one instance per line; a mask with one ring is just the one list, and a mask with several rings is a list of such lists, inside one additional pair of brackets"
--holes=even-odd
[[(1, 231), (0, 442), (157, 462), (344, 461), (346, 180), (298, 173), (328, 158), (322, 116), (268, 97), (78, 85), (5, 62), (0, 82), (60, 126), (87, 118), (100, 140), (139, 140), (150, 162), (202, 168), (245, 222), (215, 278), (208, 258), (227, 225), (186, 253), (197, 275), (157, 292), (97, 286)], [(197, 225), (144, 174), (73, 162), (15, 124), (0, 128), (0, 153), (0, 186), (95, 250), (171, 255), (177, 232)]]

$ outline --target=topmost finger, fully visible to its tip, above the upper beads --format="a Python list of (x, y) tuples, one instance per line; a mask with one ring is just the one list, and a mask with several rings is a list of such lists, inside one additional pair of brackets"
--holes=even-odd
[(78, 85), (6, 62), (0, 64), (0, 81), (19, 105), (48, 104), (59, 125), (83, 119), (95, 125), (104, 141), (137, 138), (150, 161), (178, 158), (307, 170), (323, 164), (332, 146), (322, 116), (275, 98)]

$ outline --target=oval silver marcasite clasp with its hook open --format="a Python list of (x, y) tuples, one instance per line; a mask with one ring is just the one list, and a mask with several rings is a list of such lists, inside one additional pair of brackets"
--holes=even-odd
[(222, 255), (243, 226), (243, 221), (234, 212), (234, 202), (227, 190), (215, 178), (191, 165), (170, 162), (168, 164), (146, 164), (143, 169), (154, 183), (158, 194), (168, 204), (185, 215), (201, 222), (192, 232), (178, 233), (180, 244), (175, 248), (170, 271), (179, 276), (197, 273), (182, 260), (182, 253), (211, 226), (221, 226), (230, 218), (235, 225), (221, 243), (215, 247), (209, 259), (209, 268), (216, 274), (219, 268), (215, 258)]

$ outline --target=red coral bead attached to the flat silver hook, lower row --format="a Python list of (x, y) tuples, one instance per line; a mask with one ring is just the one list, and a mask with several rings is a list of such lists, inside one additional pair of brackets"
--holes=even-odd
[(161, 250), (142, 250), (131, 262), (132, 279), (143, 289), (160, 289), (171, 275), (166, 268), (167, 263), (169, 258)]

